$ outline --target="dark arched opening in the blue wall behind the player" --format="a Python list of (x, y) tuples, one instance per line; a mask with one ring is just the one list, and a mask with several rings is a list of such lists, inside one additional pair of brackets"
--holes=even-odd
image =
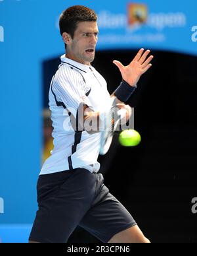
[[(136, 50), (98, 51), (92, 65), (108, 82), (112, 93), (120, 84), (118, 59), (123, 65)], [(197, 213), (191, 211), (197, 197), (197, 57), (168, 51), (152, 51), (152, 67), (142, 75), (127, 104), (135, 108), (139, 146), (123, 147), (118, 133), (105, 156), (99, 156), (105, 185), (131, 212), (152, 242), (197, 242)], [(44, 107), (48, 107), (51, 74), (59, 57), (43, 63)], [(70, 242), (95, 242), (76, 228)]]

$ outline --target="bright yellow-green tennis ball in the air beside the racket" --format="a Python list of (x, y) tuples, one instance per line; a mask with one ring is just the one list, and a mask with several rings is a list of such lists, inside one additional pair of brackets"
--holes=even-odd
[(122, 146), (137, 146), (141, 142), (141, 135), (133, 129), (121, 131), (119, 142)]

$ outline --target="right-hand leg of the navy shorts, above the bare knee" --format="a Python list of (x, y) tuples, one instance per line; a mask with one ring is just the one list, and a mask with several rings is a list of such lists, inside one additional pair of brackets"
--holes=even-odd
[[(102, 175), (97, 177), (97, 179), (102, 180)], [(98, 183), (100, 181), (97, 181), (97, 185)], [(120, 201), (109, 193), (103, 181), (101, 183), (99, 188), (97, 188), (97, 195), (91, 208), (82, 218), (79, 226), (85, 228), (93, 236), (106, 243), (115, 234), (135, 226), (136, 222)]]

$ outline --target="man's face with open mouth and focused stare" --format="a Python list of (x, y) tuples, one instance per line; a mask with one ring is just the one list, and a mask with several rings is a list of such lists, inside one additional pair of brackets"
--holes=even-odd
[(90, 65), (95, 59), (98, 32), (97, 22), (79, 22), (74, 38), (70, 38), (67, 43), (66, 56), (79, 63)]

